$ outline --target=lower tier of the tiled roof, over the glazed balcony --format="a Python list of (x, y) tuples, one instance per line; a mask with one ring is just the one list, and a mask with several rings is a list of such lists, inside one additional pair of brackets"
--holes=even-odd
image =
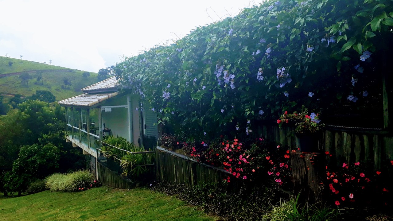
[(91, 107), (99, 102), (105, 101), (106, 99), (112, 98), (116, 95), (118, 95), (118, 92), (108, 92), (108, 93), (99, 93), (99, 94), (86, 93), (59, 101), (59, 104), (62, 106)]

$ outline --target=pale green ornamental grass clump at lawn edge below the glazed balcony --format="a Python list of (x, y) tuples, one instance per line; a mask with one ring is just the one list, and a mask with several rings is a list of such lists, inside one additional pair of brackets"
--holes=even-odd
[(97, 184), (94, 175), (88, 170), (78, 170), (72, 173), (53, 173), (46, 178), (46, 188), (52, 192), (73, 192), (88, 190)]

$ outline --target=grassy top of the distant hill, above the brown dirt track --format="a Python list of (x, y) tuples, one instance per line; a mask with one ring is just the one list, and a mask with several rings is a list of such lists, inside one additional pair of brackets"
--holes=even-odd
[[(13, 64), (10, 66), (8, 62), (11, 61)], [(10, 57), (0, 56), (0, 75), (8, 74), (13, 72), (22, 72), (29, 70), (53, 70), (53, 69), (70, 69), (50, 64), (43, 64), (35, 61), (26, 61), (21, 59), (15, 59)]]

